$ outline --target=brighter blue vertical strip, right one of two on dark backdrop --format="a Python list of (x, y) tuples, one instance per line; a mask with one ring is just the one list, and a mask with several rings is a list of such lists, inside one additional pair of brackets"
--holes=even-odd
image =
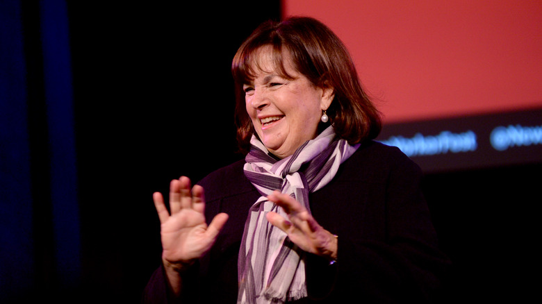
[(81, 274), (69, 24), (65, 1), (40, 4), (56, 267), (60, 285), (69, 287)]

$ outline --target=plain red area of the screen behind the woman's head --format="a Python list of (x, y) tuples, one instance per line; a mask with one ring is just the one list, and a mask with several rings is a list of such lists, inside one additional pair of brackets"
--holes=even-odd
[(345, 42), (388, 123), (542, 106), (542, 1), (283, 0)]

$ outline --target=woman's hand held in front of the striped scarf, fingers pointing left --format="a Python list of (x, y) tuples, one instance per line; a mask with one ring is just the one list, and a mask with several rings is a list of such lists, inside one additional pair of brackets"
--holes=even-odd
[(278, 191), (268, 196), (288, 214), (288, 219), (276, 212), (267, 214), (268, 221), (284, 231), (290, 240), (304, 251), (337, 260), (337, 238), (320, 226), (306, 208), (292, 196)]

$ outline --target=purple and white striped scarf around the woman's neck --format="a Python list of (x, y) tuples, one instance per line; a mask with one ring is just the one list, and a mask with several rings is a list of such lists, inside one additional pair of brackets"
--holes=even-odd
[(310, 212), (309, 192), (334, 178), (342, 162), (359, 145), (350, 146), (329, 126), (314, 140), (305, 142), (293, 155), (277, 160), (252, 136), (245, 160), (245, 176), (262, 195), (245, 223), (238, 260), (238, 303), (284, 303), (307, 296), (304, 251), (286, 233), (272, 226), (265, 214), (286, 212), (266, 196), (278, 189), (293, 196)]

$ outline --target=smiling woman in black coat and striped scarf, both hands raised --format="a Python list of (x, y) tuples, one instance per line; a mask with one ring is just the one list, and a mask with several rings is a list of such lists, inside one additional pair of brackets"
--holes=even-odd
[[(244, 161), (154, 194), (163, 265), (145, 301), (432, 301), (448, 260), (420, 170), (315, 19), (262, 24), (233, 58)], [(204, 195), (205, 189), (205, 195)]]

